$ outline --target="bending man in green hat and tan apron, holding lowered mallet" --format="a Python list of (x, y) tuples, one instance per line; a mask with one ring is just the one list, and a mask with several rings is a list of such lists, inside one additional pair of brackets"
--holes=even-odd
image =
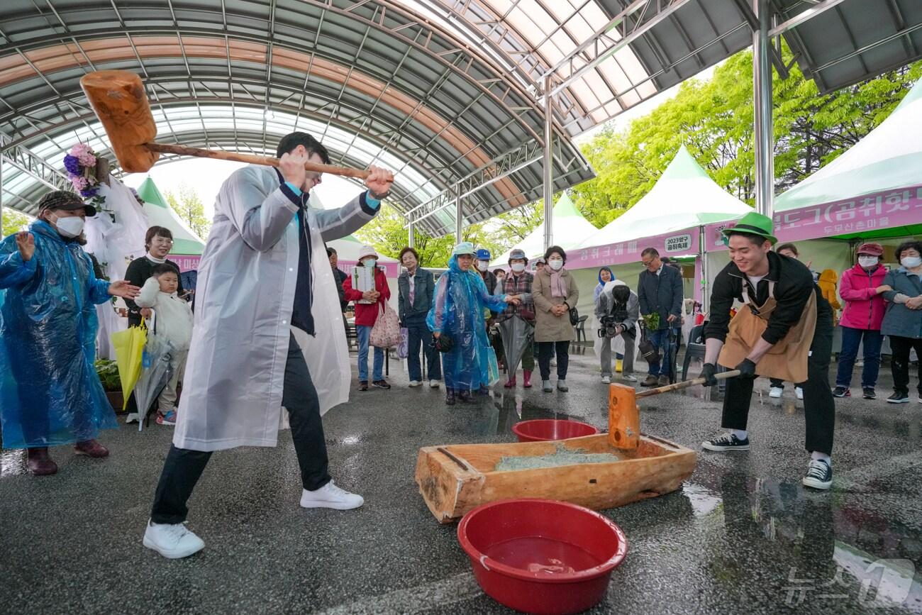
[[(772, 220), (751, 212), (723, 231), (730, 263), (717, 274), (710, 321), (704, 327), (705, 386), (716, 384), (716, 364), (739, 370), (727, 380), (721, 426), (729, 432), (702, 443), (709, 451), (749, 450), (746, 422), (756, 376), (804, 383), (807, 487), (833, 482), (835, 406), (829, 388), (833, 310), (797, 259), (776, 254)], [(732, 320), (734, 302), (743, 305)]]

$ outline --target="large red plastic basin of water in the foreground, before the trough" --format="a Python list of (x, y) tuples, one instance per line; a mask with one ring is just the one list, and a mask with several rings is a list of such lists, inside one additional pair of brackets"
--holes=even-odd
[(527, 613), (578, 613), (595, 606), (624, 561), (621, 527), (588, 508), (553, 500), (478, 506), (458, 540), (483, 591)]

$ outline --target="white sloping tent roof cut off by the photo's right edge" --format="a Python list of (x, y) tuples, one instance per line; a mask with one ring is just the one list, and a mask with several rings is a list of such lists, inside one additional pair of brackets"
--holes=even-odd
[[(774, 213), (875, 193), (900, 192), (919, 185), (922, 185), (922, 81), (909, 90), (881, 125), (837, 159), (778, 196), (774, 200)], [(840, 234), (837, 239), (882, 239), (920, 233), (922, 223), (911, 223)]]

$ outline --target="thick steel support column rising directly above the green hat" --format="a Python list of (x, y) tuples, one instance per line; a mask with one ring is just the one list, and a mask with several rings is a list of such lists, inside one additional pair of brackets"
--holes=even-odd
[(772, 27), (769, 0), (752, 0), (759, 30), (752, 33), (752, 104), (755, 112), (755, 208), (772, 217), (774, 207), (774, 124), (772, 121)]

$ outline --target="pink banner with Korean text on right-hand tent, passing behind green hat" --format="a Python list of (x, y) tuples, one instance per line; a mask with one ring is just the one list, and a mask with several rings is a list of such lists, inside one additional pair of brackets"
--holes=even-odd
[[(779, 242), (802, 242), (852, 233), (922, 223), (922, 186), (872, 193), (823, 205), (774, 213), (774, 235)], [(706, 228), (705, 249), (726, 250), (721, 231), (736, 222), (719, 222)]]

